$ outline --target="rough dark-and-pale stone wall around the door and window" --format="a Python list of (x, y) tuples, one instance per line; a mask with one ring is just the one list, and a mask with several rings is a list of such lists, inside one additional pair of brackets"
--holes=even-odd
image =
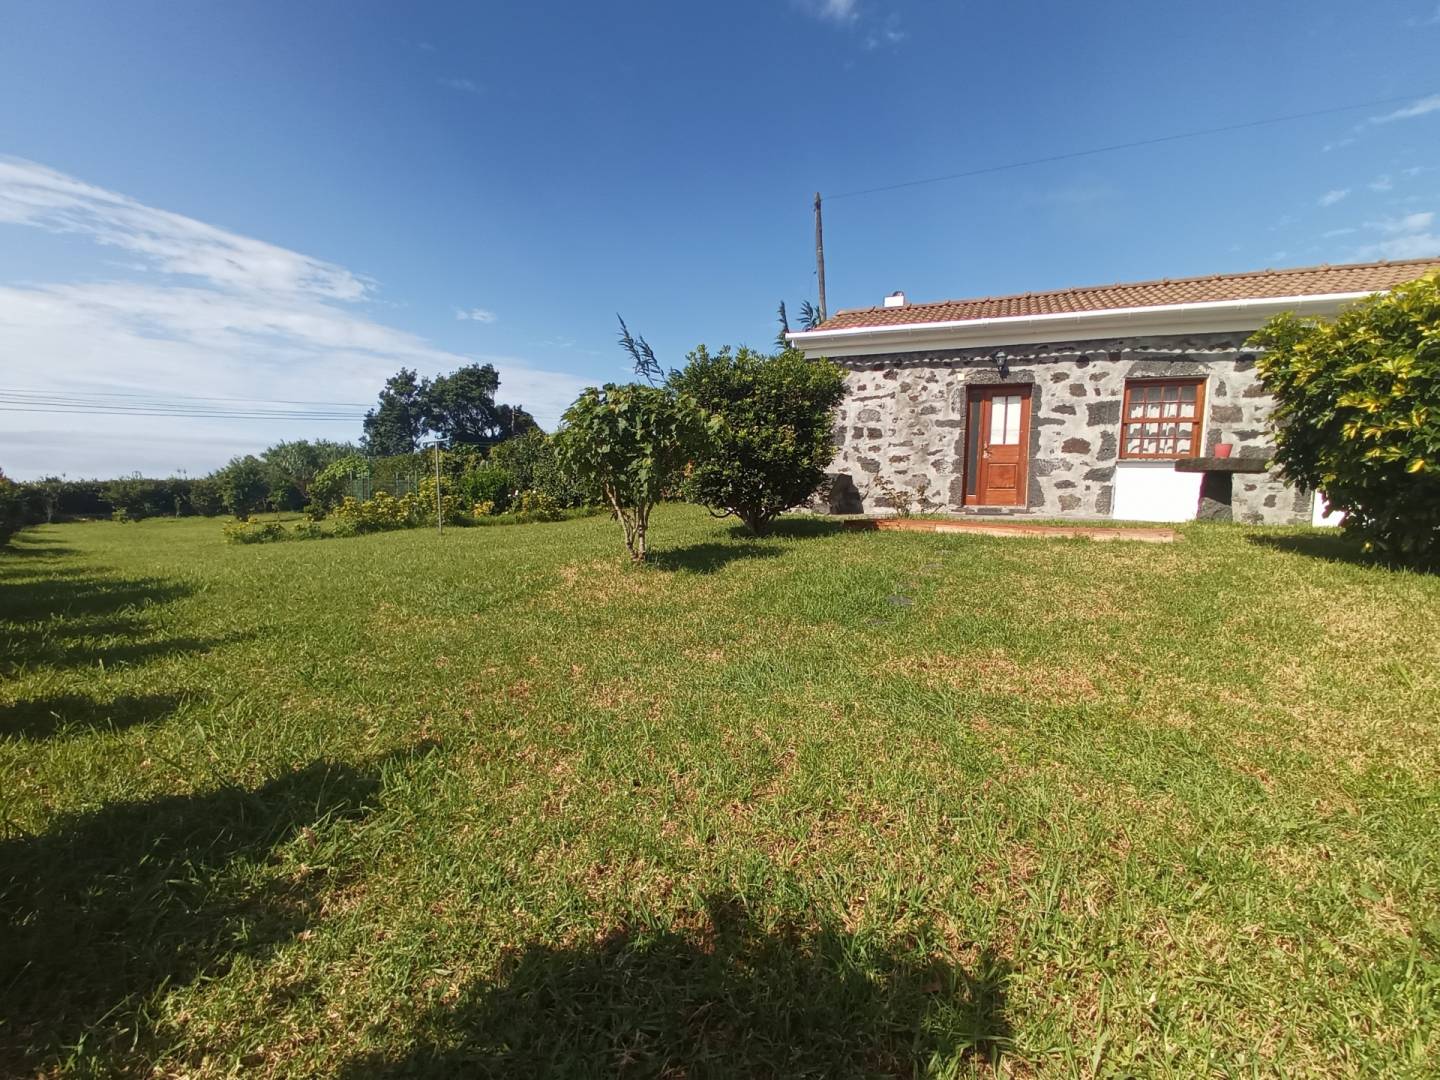
[[(1273, 408), (1244, 350), (1246, 333), (1063, 341), (1002, 348), (840, 357), (848, 369), (835, 423), (828, 508), (884, 513), (884, 488), (923, 492), (932, 508), (965, 498), (966, 386), (1031, 387), (1028, 508), (1109, 516), (1126, 379), (1207, 376), (1205, 451), (1236, 444), (1267, 456)], [(1310, 495), (1274, 474), (1234, 481), (1237, 521), (1310, 520)]]

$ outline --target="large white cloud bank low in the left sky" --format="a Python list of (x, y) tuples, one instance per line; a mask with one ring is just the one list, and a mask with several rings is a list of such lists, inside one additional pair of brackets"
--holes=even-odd
[[(462, 356), (376, 323), (351, 304), (374, 285), (343, 266), (0, 158), (0, 229), (88, 236), (138, 258), (132, 281), (0, 284), (0, 357), (10, 389), (369, 402), (400, 366), (436, 374), (494, 363), (503, 400), (552, 426), (585, 386), (523, 360)], [(328, 412), (336, 412), (330, 409)], [(344, 410), (340, 410), (344, 412)], [(192, 474), (279, 438), (357, 438), (350, 423), (202, 420), (6, 410), (0, 464), (14, 475)]]

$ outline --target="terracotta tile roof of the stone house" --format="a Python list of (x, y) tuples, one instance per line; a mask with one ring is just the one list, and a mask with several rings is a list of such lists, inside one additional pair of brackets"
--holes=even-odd
[(1224, 300), (1266, 300), (1270, 297), (1312, 297), (1329, 292), (1377, 292), (1405, 281), (1414, 281), (1431, 269), (1440, 269), (1440, 258), (1089, 285), (1053, 292), (1021, 292), (1011, 297), (906, 304), (897, 308), (855, 308), (838, 311), (816, 330), (959, 323), (971, 318), (1008, 315), (1058, 315), (1073, 311), (1146, 308)]

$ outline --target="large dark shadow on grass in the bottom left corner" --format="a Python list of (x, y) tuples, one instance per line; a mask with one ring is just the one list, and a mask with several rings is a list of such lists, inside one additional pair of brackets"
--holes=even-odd
[(372, 809), (384, 760), (117, 802), (0, 841), (0, 1076), (55, 1068), (82, 1040), (91, 1071), (148, 1074), (151, 1002), (304, 929), (334, 871), (278, 877), (266, 860)]

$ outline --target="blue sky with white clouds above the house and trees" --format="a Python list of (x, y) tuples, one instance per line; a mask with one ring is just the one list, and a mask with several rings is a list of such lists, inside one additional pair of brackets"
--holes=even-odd
[[(4, 22), (3, 390), (348, 403), (400, 364), (490, 360), (553, 425), (626, 377), (616, 312), (672, 361), (769, 344), (776, 304), (815, 295), (816, 189), (831, 310), (1440, 253), (1436, 0), (10, 0)], [(4, 409), (0, 468), (193, 474), (302, 435), (359, 425)]]

